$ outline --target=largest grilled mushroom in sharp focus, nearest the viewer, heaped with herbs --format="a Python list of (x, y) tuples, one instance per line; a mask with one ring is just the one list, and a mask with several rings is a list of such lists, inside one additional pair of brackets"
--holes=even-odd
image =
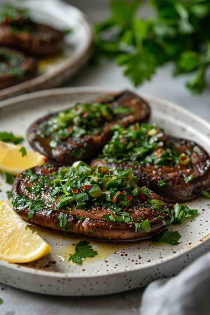
[(28, 169), (13, 185), (13, 207), (37, 225), (101, 240), (134, 241), (169, 228), (173, 205), (139, 188), (131, 169), (83, 162)]

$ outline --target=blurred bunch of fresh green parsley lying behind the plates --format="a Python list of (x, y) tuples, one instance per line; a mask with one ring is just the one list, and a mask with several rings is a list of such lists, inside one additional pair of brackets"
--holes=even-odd
[(95, 25), (96, 55), (116, 57), (135, 86), (172, 61), (173, 75), (192, 72), (186, 86), (201, 93), (210, 65), (210, 2), (150, 0), (150, 5), (155, 18), (134, 19), (140, 0), (112, 0), (111, 16)]

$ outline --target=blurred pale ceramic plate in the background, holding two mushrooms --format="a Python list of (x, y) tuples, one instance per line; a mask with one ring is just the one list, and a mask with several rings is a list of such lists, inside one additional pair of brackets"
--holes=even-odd
[[(4, 0), (0, 0), (0, 5)], [(33, 20), (58, 30), (72, 29), (65, 36), (63, 52), (38, 59), (38, 76), (0, 90), (0, 100), (37, 90), (58, 87), (76, 74), (88, 61), (93, 44), (93, 31), (87, 17), (77, 8), (59, 0), (7, 0), (6, 3), (28, 8)]]

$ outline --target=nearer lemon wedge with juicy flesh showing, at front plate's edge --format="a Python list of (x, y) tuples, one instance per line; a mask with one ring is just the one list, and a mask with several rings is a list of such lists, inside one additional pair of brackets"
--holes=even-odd
[(0, 202), (0, 260), (23, 263), (49, 254), (50, 246), (32, 232), (4, 201)]

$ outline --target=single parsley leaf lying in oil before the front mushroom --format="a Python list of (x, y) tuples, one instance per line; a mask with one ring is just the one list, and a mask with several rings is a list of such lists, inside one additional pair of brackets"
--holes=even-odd
[(96, 255), (98, 255), (98, 253), (93, 250), (92, 246), (89, 245), (89, 242), (79, 241), (79, 243), (75, 245), (75, 254), (69, 257), (69, 261), (72, 260), (72, 262), (75, 262), (76, 264), (81, 265), (82, 258), (86, 258), (86, 257), (92, 258)]

